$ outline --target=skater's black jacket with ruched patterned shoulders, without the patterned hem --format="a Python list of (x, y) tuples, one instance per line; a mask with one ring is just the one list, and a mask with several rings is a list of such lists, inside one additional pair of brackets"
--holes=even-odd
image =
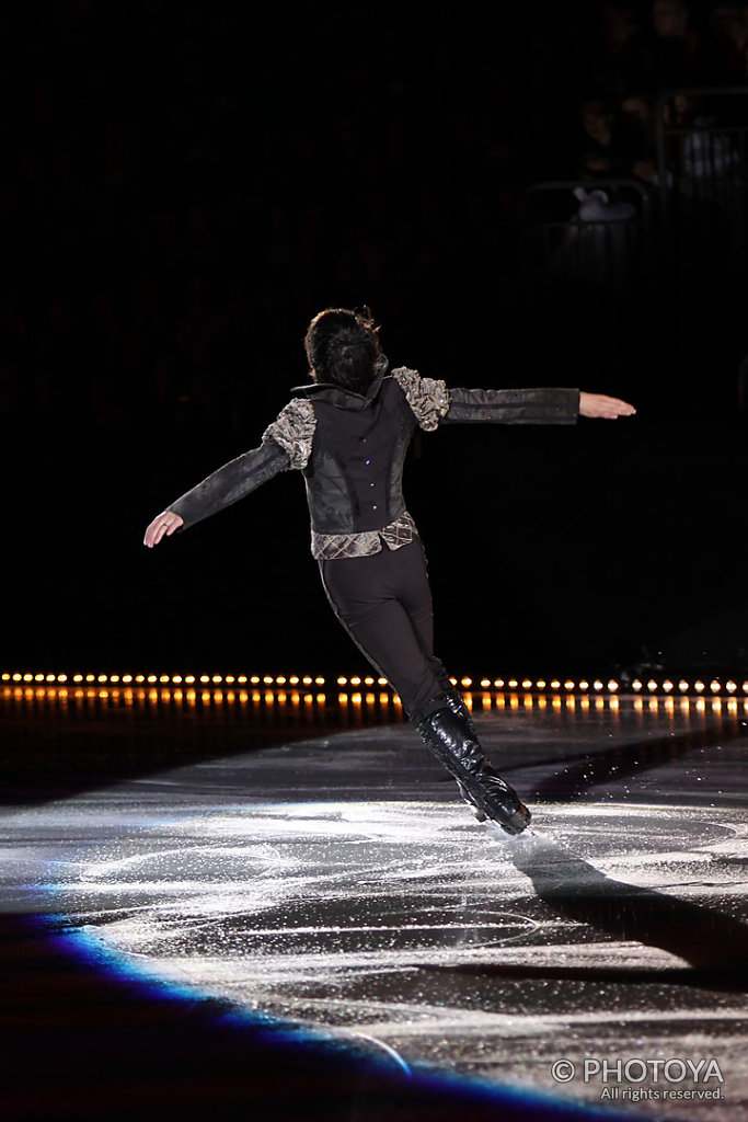
[(219, 468), (168, 508), (185, 526), (236, 503), (288, 468), (306, 482), (318, 535), (379, 531), (406, 514), (403, 466), (417, 426), (455, 422), (573, 424), (576, 389), (447, 389), (398, 368), (366, 395), (336, 386), (297, 387), (259, 448)]

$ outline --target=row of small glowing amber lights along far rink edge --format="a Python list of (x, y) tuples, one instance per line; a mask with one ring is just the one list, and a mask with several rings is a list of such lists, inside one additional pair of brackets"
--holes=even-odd
[[(627, 693), (639, 696), (665, 695), (699, 697), (735, 697), (736, 695), (748, 695), (748, 680), (740, 681), (729, 678), (722, 681), (719, 678), (687, 680), (684, 678), (635, 678), (630, 683), (619, 682), (616, 679), (603, 681), (600, 678), (451, 678), (453, 686), (470, 693), (550, 693), (550, 695), (573, 695), (589, 696), (601, 693)], [(262, 689), (265, 691), (277, 692), (292, 689), (310, 690), (318, 688), (336, 687), (345, 693), (358, 692), (360, 690), (384, 689), (387, 687), (385, 678), (364, 677), (358, 674), (339, 674), (330, 679), (322, 674), (104, 674), (104, 673), (48, 673), (44, 671), (3, 671), (0, 673), (0, 682), (6, 686), (26, 687), (50, 687), (65, 686), (72, 688), (95, 688), (95, 687), (141, 687), (141, 688), (168, 688), (179, 687), (195, 690), (224, 690), (224, 689)]]

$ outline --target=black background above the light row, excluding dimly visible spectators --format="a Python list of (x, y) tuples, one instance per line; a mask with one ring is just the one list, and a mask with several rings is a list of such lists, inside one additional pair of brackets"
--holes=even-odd
[[(3, 670), (363, 669), (297, 473), (141, 545), (306, 380), (311, 316), (363, 303), (394, 365), (638, 408), (416, 440), (453, 672), (742, 665), (745, 316), (710, 300), (735, 278), (699, 274), (678, 315), (653, 284), (634, 319), (594, 289), (558, 316), (520, 280), (527, 188), (593, 174), (585, 98), (746, 82), (731, 6), (691, 6), (680, 39), (626, 8), (621, 53), (621, 8), (581, 0), (6, 7)], [(629, 141), (617, 173), (652, 156)]]

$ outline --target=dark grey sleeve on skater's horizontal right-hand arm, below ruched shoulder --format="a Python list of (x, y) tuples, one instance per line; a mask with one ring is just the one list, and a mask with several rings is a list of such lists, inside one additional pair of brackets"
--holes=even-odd
[(443, 423), (575, 424), (579, 389), (453, 389)]

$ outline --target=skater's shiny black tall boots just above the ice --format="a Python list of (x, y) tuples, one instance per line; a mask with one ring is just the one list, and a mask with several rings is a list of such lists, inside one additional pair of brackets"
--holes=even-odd
[(462, 797), (482, 816), (479, 821), (490, 818), (507, 834), (521, 834), (530, 812), (486, 758), (462, 698), (459, 701), (458, 706), (454, 698), (450, 702), (445, 697), (438, 708), (432, 702), (415, 716), (414, 724), (426, 746), (454, 775)]

